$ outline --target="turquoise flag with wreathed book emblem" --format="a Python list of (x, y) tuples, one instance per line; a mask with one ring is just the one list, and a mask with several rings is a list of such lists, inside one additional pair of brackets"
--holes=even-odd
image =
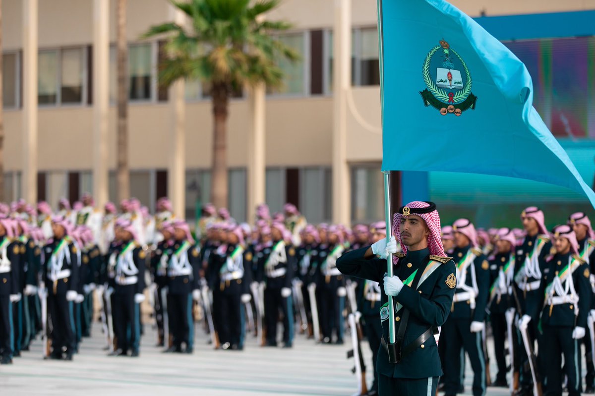
[(542, 181), (595, 206), (533, 108), (527, 68), (483, 27), (443, 0), (378, 0), (378, 27), (383, 170)]

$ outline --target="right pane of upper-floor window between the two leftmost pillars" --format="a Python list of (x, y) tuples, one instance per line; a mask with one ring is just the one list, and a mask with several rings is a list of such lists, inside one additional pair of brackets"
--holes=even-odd
[(82, 103), (83, 101), (83, 48), (69, 48), (61, 51), (61, 103)]

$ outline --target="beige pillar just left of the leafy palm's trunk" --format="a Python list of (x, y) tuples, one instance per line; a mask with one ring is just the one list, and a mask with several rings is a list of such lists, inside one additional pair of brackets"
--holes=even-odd
[[(177, 24), (186, 23), (183, 12), (170, 6), (171, 18)], [(177, 80), (170, 86), (170, 147), (167, 168), (167, 194), (174, 213), (184, 218), (186, 212), (186, 95), (184, 80)]]

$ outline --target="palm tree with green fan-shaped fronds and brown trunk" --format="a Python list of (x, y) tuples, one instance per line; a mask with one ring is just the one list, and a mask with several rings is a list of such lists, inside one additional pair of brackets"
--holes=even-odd
[[(169, 86), (179, 78), (201, 80), (211, 88), (214, 117), (211, 202), (227, 207), (227, 116), (229, 98), (244, 86), (283, 84), (281, 59), (295, 61), (296, 52), (275, 35), (291, 26), (267, 21), (264, 14), (278, 0), (171, 0), (189, 18), (189, 28), (176, 23), (152, 26), (143, 37), (167, 36), (168, 57), (159, 65), (159, 80)], [(250, 4), (252, 3), (252, 4)]]

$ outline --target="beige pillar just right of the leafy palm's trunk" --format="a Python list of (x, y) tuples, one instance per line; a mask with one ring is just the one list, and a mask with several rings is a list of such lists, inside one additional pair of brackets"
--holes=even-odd
[(254, 224), (256, 206), (265, 203), (265, 84), (251, 87), (249, 97), (250, 128), (248, 133), (248, 222)]

